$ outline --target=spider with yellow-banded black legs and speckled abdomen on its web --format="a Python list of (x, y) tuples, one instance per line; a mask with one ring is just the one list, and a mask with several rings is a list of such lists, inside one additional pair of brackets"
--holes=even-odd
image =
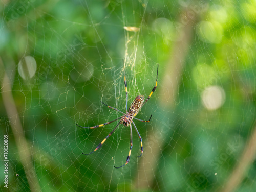
[[(157, 76), (158, 76), (158, 64), (157, 64)], [(123, 116), (121, 117), (118, 117), (117, 119), (114, 119), (113, 121), (110, 121), (110, 122), (107, 122), (107, 123), (104, 123), (104, 124), (100, 124), (100, 125), (96, 125), (96, 126), (93, 126), (93, 127), (82, 127), (82, 126), (79, 126), (78, 124), (76, 124), (77, 126), (81, 127), (81, 128), (88, 128), (88, 129), (95, 129), (95, 128), (98, 128), (98, 127), (102, 127), (104, 125), (108, 125), (110, 123), (113, 123), (117, 120), (120, 119), (120, 121), (118, 122), (118, 124), (116, 125), (116, 127), (108, 134), (108, 136), (106, 136), (102, 141), (101, 143), (99, 143), (99, 145), (96, 147), (96, 149), (94, 151), (92, 151), (91, 153), (82, 153), (83, 155), (90, 155), (92, 154), (93, 152), (97, 151), (102, 145), (103, 143), (106, 141), (106, 139), (108, 139), (113, 133), (114, 131), (117, 129), (117, 127), (120, 125), (120, 124), (123, 124), (124, 126), (128, 127), (130, 126), (130, 136), (131, 136), (131, 140), (130, 140), (130, 150), (129, 150), (129, 154), (127, 156), (127, 159), (126, 159), (126, 162), (121, 165), (121, 166), (114, 166), (115, 168), (121, 168), (123, 167), (124, 165), (128, 164), (129, 161), (130, 161), (130, 156), (131, 156), (131, 152), (132, 152), (132, 148), (133, 148), (133, 134), (132, 134), (132, 124), (139, 136), (139, 139), (140, 139), (140, 146), (141, 146), (141, 154), (140, 156), (138, 157), (141, 157), (142, 153), (143, 153), (143, 145), (142, 145), (142, 138), (140, 136), (140, 133), (138, 131), (138, 129), (136, 128), (135, 126), (135, 123), (133, 122), (133, 119), (136, 119), (138, 121), (141, 121), (141, 122), (150, 122), (150, 119), (152, 117), (152, 115), (150, 116), (150, 119), (148, 119), (148, 121), (144, 121), (144, 120), (141, 120), (141, 119), (138, 119), (138, 118), (135, 118), (135, 116), (138, 114), (139, 110), (142, 108), (142, 106), (150, 99), (152, 93), (156, 90), (157, 88), (157, 79), (156, 79), (156, 85), (155, 87), (152, 89), (150, 95), (148, 95), (148, 98), (146, 99), (146, 101), (144, 102), (144, 95), (138, 95), (135, 100), (133, 101), (133, 103), (131, 104), (131, 106), (129, 107), (129, 110), (127, 110), (127, 102), (128, 102), (128, 91), (127, 91), (127, 82), (126, 82), (126, 78), (125, 78), (125, 74), (124, 74), (124, 87), (125, 87), (125, 93), (126, 93), (126, 105), (125, 105), (125, 108), (126, 108), (126, 113), (123, 113), (122, 111), (119, 111), (118, 109), (114, 108), (114, 107), (111, 107), (109, 105), (106, 105), (104, 104), (103, 102), (101, 102), (102, 104), (108, 106), (109, 108), (111, 109), (114, 109), (120, 113), (123, 114)]]

